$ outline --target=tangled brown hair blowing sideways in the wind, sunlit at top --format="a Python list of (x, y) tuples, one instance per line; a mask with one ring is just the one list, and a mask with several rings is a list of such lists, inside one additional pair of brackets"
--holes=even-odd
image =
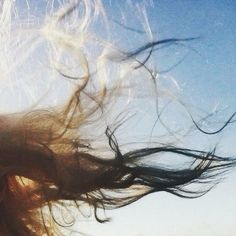
[[(37, 23), (29, 17), (25, 23), (17, 3), (1, 3), (1, 45), (17, 53), (17, 62), (5, 67), (4, 76), (17, 71), (22, 61), (40, 57), (36, 52), (40, 49), (47, 55), (45, 77), (64, 78), (73, 87), (68, 101), (62, 98), (63, 105), (33, 104), (28, 110), (0, 116), (1, 235), (59, 235), (73, 220), (61, 223), (57, 208), (70, 214), (86, 203), (103, 222), (107, 219), (98, 217), (98, 209), (123, 207), (153, 192), (195, 198), (209, 191), (220, 180), (217, 177), (234, 165), (233, 159), (220, 157), (215, 150), (182, 148), (171, 142), (150, 141), (146, 147), (140, 143), (134, 150), (130, 144), (127, 150), (115, 135), (131, 117), (116, 110), (132, 102), (127, 94), (135, 86), (146, 84), (143, 89), (155, 91), (157, 103), (161, 97), (155, 70), (148, 64), (153, 52), (193, 39), (155, 41), (145, 25), (146, 32), (138, 33), (149, 35), (149, 42), (121, 50), (109, 43), (109, 20), (99, 0), (59, 2), (49, 1)], [(92, 33), (96, 24), (104, 26), (107, 35)], [(142, 84), (130, 83), (137, 77)], [(184, 161), (159, 165), (155, 161), (163, 154)], [(199, 190), (196, 184), (206, 187)]]

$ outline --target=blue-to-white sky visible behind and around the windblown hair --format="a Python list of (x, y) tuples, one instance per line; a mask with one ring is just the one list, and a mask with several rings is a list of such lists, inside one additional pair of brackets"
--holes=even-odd
[[(21, 1), (16, 0), (16, 2)], [(31, 7), (35, 4), (33, 11), (38, 12), (38, 16), (33, 18), (40, 19), (43, 12), (40, 1), (29, 2)], [(108, 20), (111, 21), (111, 37), (116, 45), (133, 49), (149, 40), (147, 36), (138, 33), (143, 26), (138, 21), (137, 14), (134, 14), (137, 4), (141, 4), (142, 1), (104, 0), (102, 2)], [(22, 3), (19, 4), (21, 7), (19, 10), (25, 11), (25, 1), (22, 0)], [(146, 5), (146, 15), (143, 16), (149, 21), (154, 39), (198, 38), (189, 42), (188, 47), (175, 46), (158, 51), (153, 58), (156, 59), (155, 65), (158, 71), (165, 71), (181, 61), (162, 76), (173, 78), (173, 81), (178, 84), (181, 101), (189, 106), (196, 118), (207, 112), (218, 111), (212, 118), (213, 126), (204, 126), (206, 130), (212, 131), (221, 127), (222, 122), (236, 111), (236, 1), (153, 0), (146, 1), (144, 5)], [(99, 35), (102, 35), (99, 27), (97, 30)], [(43, 49), (40, 51), (39, 47), (36, 53), (43, 55), (44, 52)], [(36, 102), (44, 95), (40, 92), (41, 88), (45, 93), (49, 89), (46, 76), (41, 72), (33, 71), (34, 81), (40, 89), (34, 82), (31, 88), (28, 79), (25, 81), (29, 84), (26, 84), (26, 89), (22, 92), (22, 87), (18, 88), (17, 84), (26, 83), (22, 82), (25, 71), (32, 72), (29, 68), (22, 69), (21, 73), (16, 75), (19, 80), (15, 84), (8, 83), (5, 86), (4, 82), (0, 82), (1, 111), (20, 110), (20, 104), (21, 106), (32, 104), (29, 101), (25, 102), (25, 99), (35, 99), (33, 102)], [(47, 100), (51, 99), (51, 105), (61, 99), (58, 98), (59, 94), (67, 94), (70, 85), (65, 85), (66, 91), (63, 89), (65, 87), (62, 88), (58, 84), (57, 86), (58, 91), (53, 92)], [(169, 84), (167, 83), (166, 86), (168, 87)], [(14, 93), (14, 96), (22, 100), (17, 100), (15, 108), (13, 108), (15, 100), (9, 97), (13, 91), (20, 91), (19, 96), (18, 92)], [(144, 124), (139, 131), (144, 136), (148, 136), (150, 125), (147, 123), (153, 121), (153, 117), (149, 117), (148, 109), (143, 108), (142, 112), (144, 111), (147, 114), (143, 118)], [(188, 113), (181, 112), (182, 115), (184, 114), (183, 119), (186, 119)], [(182, 117), (181, 115), (167, 113), (166, 117), (172, 125), (178, 123), (182, 125), (182, 121), (176, 121), (176, 117)], [(129, 135), (132, 136), (131, 131)], [(236, 122), (214, 137), (204, 136), (195, 131), (185, 137), (184, 143), (189, 147), (204, 150), (210, 150), (217, 145), (220, 154), (236, 156), (235, 140)], [(155, 193), (122, 209), (107, 211), (106, 215), (111, 217), (108, 223), (100, 224), (94, 219), (85, 218), (77, 222), (74, 228), (85, 235), (94, 236), (235, 236), (236, 169), (224, 177), (225, 180), (199, 199), (180, 199), (167, 193)]]

